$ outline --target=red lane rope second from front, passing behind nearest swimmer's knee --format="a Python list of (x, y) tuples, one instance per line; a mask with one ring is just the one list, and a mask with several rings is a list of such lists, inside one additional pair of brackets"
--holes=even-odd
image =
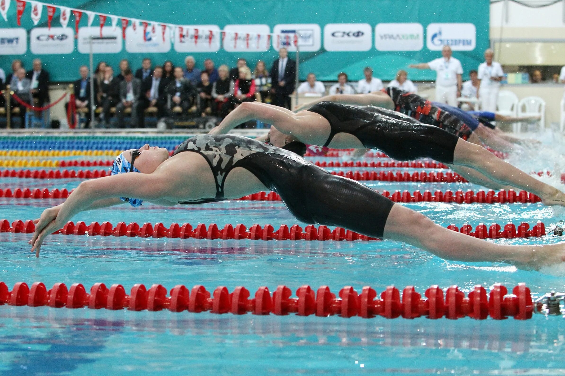
[[(447, 228), (466, 235), (474, 236), (480, 239), (491, 238), (516, 238), (516, 237), (541, 237), (546, 234), (545, 224), (538, 221), (530, 228), (528, 223), (522, 222), (516, 228), (516, 225), (507, 223), (502, 227), (500, 224), (493, 223), (487, 229), (484, 223), (480, 223), (473, 231), (470, 224), (463, 224), (460, 228), (455, 224), (450, 224)], [(12, 233), (32, 233), (35, 231), (35, 225), (32, 220), (15, 220), (10, 224), (7, 219), (0, 220), (0, 232)], [(85, 235), (89, 236), (127, 236), (127, 237), (154, 237), (154, 238), (195, 238), (195, 239), (250, 239), (250, 240), (335, 240), (335, 241), (354, 241), (354, 240), (377, 240), (357, 232), (336, 227), (333, 230), (325, 225), (315, 227), (312, 224), (307, 225), (304, 230), (297, 224), (283, 224), (275, 231), (272, 225), (266, 224), (261, 227), (254, 224), (247, 231), (244, 224), (235, 226), (227, 224), (220, 229), (217, 224), (212, 223), (206, 226), (203, 223), (192, 227), (191, 224), (173, 223), (168, 228), (163, 223), (144, 223), (139, 225), (135, 222), (125, 224), (119, 222), (114, 227), (110, 222), (93, 222), (86, 225), (84, 222), (67, 222), (62, 229), (53, 233), (54, 235)]]

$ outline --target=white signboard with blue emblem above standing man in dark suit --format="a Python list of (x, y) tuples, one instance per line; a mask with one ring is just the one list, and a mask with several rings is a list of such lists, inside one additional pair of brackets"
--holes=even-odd
[(272, 45), (277, 51), (280, 47), (296, 51), (294, 36), (297, 36), (300, 51), (314, 52), (321, 47), (321, 29), (318, 24), (279, 24), (273, 28), (273, 34)]

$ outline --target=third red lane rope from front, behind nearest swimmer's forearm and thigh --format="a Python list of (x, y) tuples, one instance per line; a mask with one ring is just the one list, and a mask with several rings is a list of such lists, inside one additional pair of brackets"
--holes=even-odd
[[(0, 197), (7, 198), (67, 198), (73, 190), (68, 191), (66, 188), (63, 189), (52, 189), (51, 191), (47, 188), (15, 188), (12, 191), (11, 188), (0, 189)], [(461, 189), (458, 191), (424, 191), (424, 193), (414, 191), (410, 193), (408, 191), (394, 191), (390, 194), (389, 191), (376, 191), (383, 196), (390, 198), (393, 202), (453, 202), (455, 204), (515, 204), (519, 202), (521, 204), (541, 202), (540, 197), (533, 193), (528, 193), (526, 191), (520, 191), (516, 193), (514, 189), (509, 189), (509, 191), (501, 190), (498, 192), (492, 189), (485, 192), (482, 189), (475, 192), (469, 189), (467, 192), (463, 192)], [(249, 196), (244, 196), (238, 198), (241, 201), (281, 201), (281, 197), (276, 192), (258, 192), (250, 194)], [(237, 201), (233, 200), (233, 201)]]

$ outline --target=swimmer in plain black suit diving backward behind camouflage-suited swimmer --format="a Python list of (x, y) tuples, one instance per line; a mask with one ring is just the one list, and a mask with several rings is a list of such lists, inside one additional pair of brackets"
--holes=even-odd
[[(565, 206), (563, 192), (516, 169), (480, 145), (436, 126), (398, 120), (333, 102), (321, 102), (299, 113), (270, 104), (247, 102), (229, 113), (210, 134), (226, 134), (249, 120), (271, 124), (268, 140), (277, 147), (285, 145), (290, 135), (293, 140), (311, 145), (376, 149), (398, 161), (432, 158), (470, 167), (496, 184), (532, 192), (545, 205)], [(488, 180), (475, 181), (481, 184)]]

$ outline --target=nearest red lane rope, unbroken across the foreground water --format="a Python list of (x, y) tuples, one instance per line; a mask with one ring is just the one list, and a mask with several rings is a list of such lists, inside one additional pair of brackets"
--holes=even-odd
[(512, 294), (501, 284), (494, 284), (490, 293), (481, 285), (475, 285), (465, 296), (458, 286), (450, 286), (442, 290), (437, 285), (429, 287), (424, 296), (416, 292), (414, 286), (406, 286), (400, 291), (394, 286), (388, 286), (380, 294), (370, 286), (364, 286), (359, 294), (352, 286), (345, 286), (339, 293), (332, 293), (328, 286), (320, 286), (317, 291), (308, 285), (296, 290), (296, 298), (285, 285), (277, 286), (271, 292), (268, 287), (261, 286), (253, 298), (244, 286), (237, 286), (232, 293), (227, 287), (219, 286), (212, 292), (202, 285), (187, 289), (184, 285), (176, 285), (167, 296), (163, 285), (154, 284), (149, 290), (145, 285), (133, 285), (129, 295), (122, 285), (114, 284), (110, 288), (103, 283), (96, 283), (86, 292), (84, 285), (73, 284), (70, 288), (58, 282), (50, 290), (42, 282), (34, 282), (30, 287), (25, 282), (17, 282), (12, 291), (8, 290), (5, 282), (0, 282), (0, 305), (53, 307), (53, 308), (106, 308), (111, 310), (128, 309), (130, 311), (162, 311), (172, 312), (205, 312), (233, 315), (285, 316), (295, 313), (298, 316), (315, 315), (319, 317), (359, 316), (370, 319), (376, 316), (386, 319), (428, 319), (456, 320), (471, 317), (485, 320), (503, 320), (514, 317), (516, 320), (532, 318), (534, 303), (530, 289), (520, 283), (512, 289)]

